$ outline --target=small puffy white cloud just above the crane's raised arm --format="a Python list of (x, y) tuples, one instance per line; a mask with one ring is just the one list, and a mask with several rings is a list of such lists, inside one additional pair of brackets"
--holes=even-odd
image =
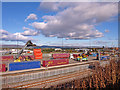
[(39, 31), (32, 30), (32, 29), (26, 28), (26, 27), (23, 27), (23, 30), (25, 30), (25, 31), (23, 33), (21, 33), (21, 35), (24, 35), (24, 36), (36, 36), (36, 35), (40, 34)]

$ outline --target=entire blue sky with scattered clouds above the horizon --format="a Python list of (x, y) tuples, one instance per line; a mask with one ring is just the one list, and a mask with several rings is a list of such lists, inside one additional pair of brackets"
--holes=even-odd
[(3, 2), (2, 44), (117, 46), (118, 3)]

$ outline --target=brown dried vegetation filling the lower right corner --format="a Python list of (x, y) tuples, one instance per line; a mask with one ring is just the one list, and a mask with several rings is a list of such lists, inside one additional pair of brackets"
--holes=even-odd
[(90, 89), (90, 88), (120, 88), (120, 60), (111, 60), (105, 67), (95, 64), (93, 74), (87, 78), (77, 79), (62, 85), (52, 86), (56, 89)]

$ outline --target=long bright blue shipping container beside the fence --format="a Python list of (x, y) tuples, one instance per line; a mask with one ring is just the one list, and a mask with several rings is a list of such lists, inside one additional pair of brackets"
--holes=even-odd
[(40, 61), (14, 62), (9, 64), (9, 71), (40, 68)]

